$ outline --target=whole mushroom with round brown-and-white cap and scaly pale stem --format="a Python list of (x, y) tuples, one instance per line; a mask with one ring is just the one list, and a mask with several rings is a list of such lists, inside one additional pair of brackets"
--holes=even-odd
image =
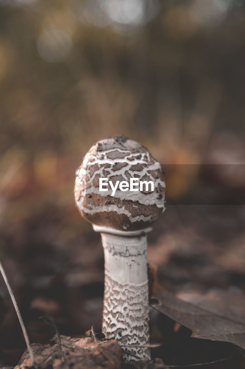
[[(142, 187), (137, 181), (143, 182)], [(146, 234), (164, 211), (161, 166), (136, 141), (123, 135), (103, 139), (77, 169), (74, 194), (81, 215), (101, 233), (102, 332), (108, 339), (115, 337), (126, 361), (150, 359)]]

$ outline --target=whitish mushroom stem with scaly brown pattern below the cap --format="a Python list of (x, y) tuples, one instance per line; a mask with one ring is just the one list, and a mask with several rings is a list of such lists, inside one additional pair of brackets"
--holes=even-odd
[(105, 255), (102, 332), (108, 339), (115, 337), (126, 361), (150, 359), (150, 349), (142, 345), (149, 344), (146, 233), (151, 228), (129, 232), (93, 228), (101, 232)]

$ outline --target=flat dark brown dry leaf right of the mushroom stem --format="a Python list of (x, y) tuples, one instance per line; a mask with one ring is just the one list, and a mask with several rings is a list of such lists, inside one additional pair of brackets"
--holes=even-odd
[(245, 349), (245, 297), (240, 290), (212, 289), (204, 295), (181, 293), (179, 297), (158, 289), (150, 306), (192, 330), (192, 337)]

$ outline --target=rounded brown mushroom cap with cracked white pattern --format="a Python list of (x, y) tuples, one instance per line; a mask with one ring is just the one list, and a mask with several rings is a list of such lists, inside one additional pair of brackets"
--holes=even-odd
[[(99, 191), (99, 178), (108, 178), (108, 191)], [(153, 181), (154, 191), (143, 184), (140, 191), (122, 191), (119, 185), (112, 196), (109, 181), (139, 178)], [(137, 183), (137, 182), (136, 182)], [(104, 187), (106, 188), (106, 187)], [(139, 188), (139, 187), (138, 187)], [(76, 206), (90, 223), (121, 231), (149, 227), (164, 211), (165, 182), (161, 166), (147, 148), (123, 135), (94, 144), (76, 171)]]

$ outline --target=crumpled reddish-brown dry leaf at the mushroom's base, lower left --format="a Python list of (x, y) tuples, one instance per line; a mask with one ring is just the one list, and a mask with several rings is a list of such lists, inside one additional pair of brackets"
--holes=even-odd
[[(114, 369), (120, 368), (122, 349), (115, 340), (94, 342), (93, 338), (60, 336), (54, 345), (32, 344), (39, 369)], [(26, 350), (14, 369), (33, 368)]]

